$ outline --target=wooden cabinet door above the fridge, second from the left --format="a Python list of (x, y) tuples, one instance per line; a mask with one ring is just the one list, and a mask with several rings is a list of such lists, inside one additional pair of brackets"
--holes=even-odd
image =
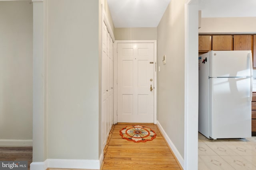
[(233, 50), (233, 36), (212, 35), (212, 50)]

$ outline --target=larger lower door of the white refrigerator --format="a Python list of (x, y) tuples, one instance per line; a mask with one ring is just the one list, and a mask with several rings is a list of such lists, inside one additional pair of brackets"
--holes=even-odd
[(210, 78), (210, 137), (251, 137), (250, 78)]

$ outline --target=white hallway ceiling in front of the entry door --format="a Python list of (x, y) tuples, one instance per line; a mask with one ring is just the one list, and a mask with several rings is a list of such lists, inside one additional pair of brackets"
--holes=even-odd
[(170, 0), (107, 0), (116, 28), (157, 27)]

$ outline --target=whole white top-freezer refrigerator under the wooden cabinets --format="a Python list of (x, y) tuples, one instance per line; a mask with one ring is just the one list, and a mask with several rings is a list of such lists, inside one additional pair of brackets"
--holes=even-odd
[(251, 137), (251, 51), (210, 51), (198, 67), (198, 131), (209, 139)]

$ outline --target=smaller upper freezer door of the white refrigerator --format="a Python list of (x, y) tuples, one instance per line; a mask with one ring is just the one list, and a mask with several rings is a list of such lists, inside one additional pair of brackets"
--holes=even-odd
[(251, 76), (251, 51), (211, 51), (210, 77)]

